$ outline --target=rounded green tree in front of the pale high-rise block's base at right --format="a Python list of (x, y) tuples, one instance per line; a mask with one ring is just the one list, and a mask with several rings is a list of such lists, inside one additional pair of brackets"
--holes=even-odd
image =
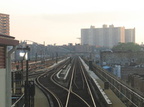
[(112, 48), (113, 51), (140, 51), (141, 47), (133, 42), (119, 43)]

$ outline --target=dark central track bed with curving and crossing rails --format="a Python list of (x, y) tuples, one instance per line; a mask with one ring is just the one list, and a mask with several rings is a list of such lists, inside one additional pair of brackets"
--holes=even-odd
[(67, 85), (59, 82), (57, 73), (69, 63), (66, 61), (37, 78), (37, 84), (50, 95), (51, 107), (101, 107), (96, 102), (89, 76), (78, 57), (72, 60), (67, 79), (63, 81)]

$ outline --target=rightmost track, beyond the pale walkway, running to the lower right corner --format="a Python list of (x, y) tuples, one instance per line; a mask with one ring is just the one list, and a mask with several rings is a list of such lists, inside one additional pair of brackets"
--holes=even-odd
[(110, 88), (127, 107), (143, 107), (144, 97), (134, 91), (132, 87), (129, 87), (126, 85), (126, 83), (123, 83), (121, 80), (105, 71), (98, 65), (94, 64), (93, 69), (99, 78), (105, 82), (109, 82)]

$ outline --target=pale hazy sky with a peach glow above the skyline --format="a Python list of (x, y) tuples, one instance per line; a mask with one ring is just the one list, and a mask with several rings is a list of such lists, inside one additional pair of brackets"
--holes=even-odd
[(144, 42), (143, 0), (2, 0), (0, 13), (10, 15), (10, 35), (46, 44), (79, 43), (81, 28), (136, 28)]

